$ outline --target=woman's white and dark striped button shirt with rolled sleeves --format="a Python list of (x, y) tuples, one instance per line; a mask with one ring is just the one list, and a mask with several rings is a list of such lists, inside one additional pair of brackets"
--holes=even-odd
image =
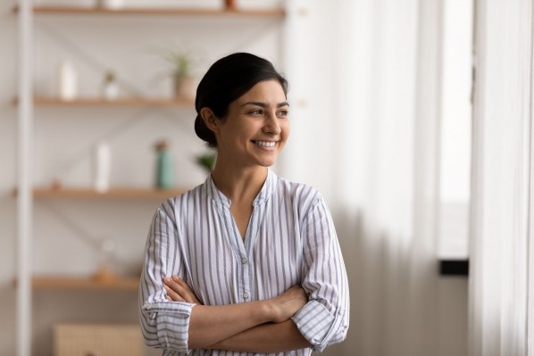
[[(163, 349), (163, 355), (253, 354), (188, 350), (194, 304), (167, 301), (163, 277), (171, 275), (182, 277), (204, 305), (270, 299), (302, 286), (308, 302), (292, 318), (300, 333), (316, 351), (343, 341), (349, 312), (346, 270), (319, 192), (269, 170), (245, 239), (229, 206), (210, 176), (156, 211), (139, 289), (146, 344)], [(275, 354), (310, 355), (313, 349)]]

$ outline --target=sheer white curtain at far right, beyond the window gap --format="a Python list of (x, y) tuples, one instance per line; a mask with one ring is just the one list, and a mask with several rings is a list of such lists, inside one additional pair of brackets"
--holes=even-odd
[(532, 0), (480, 0), (470, 355), (534, 355)]

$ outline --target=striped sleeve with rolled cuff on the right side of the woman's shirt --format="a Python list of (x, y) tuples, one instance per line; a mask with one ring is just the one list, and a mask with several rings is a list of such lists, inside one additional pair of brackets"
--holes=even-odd
[(319, 195), (302, 224), (303, 288), (309, 302), (293, 317), (300, 333), (321, 352), (345, 340), (349, 292), (345, 263), (330, 211)]

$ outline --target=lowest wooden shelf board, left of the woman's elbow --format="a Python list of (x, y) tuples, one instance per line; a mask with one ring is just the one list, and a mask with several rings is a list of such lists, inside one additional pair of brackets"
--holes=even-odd
[(98, 281), (91, 277), (41, 276), (31, 279), (34, 290), (137, 290), (139, 278), (117, 278), (113, 281)]

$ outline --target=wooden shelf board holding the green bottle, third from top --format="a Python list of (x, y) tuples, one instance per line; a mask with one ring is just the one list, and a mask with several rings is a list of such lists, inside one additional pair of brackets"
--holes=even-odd
[(84, 199), (167, 199), (180, 195), (188, 189), (153, 189), (115, 187), (99, 193), (92, 188), (46, 188), (37, 187), (33, 190), (36, 198), (84, 198)]

